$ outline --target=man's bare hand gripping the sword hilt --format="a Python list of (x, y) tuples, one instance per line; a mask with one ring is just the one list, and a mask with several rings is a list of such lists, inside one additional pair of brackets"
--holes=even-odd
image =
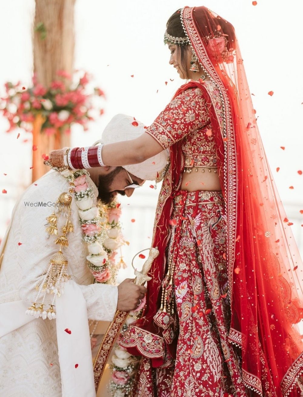
[(118, 285), (118, 310), (124, 312), (135, 310), (147, 292), (145, 287), (136, 285), (132, 281), (132, 279), (127, 278)]

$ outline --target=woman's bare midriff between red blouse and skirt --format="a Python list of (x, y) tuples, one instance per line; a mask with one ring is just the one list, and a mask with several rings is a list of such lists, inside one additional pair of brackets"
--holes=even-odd
[(195, 170), (196, 168), (193, 168), (190, 174), (183, 172), (181, 190), (189, 192), (197, 190), (221, 191), (218, 173), (215, 173), (213, 169), (209, 172), (207, 168), (205, 168), (205, 172), (202, 172), (201, 168), (198, 168), (198, 172)]

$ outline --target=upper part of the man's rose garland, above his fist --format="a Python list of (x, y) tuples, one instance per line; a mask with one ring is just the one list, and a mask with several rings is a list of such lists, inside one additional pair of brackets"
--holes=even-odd
[(124, 264), (122, 258), (115, 264), (117, 249), (127, 243), (121, 233), (119, 217), (120, 203), (114, 201), (103, 205), (100, 201), (94, 206), (94, 192), (88, 185), (86, 170), (64, 170), (60, 172), (74, 191), (78, 214), (87, 244), (89, 255), (87, 266), (96, 282), (115, 284), (117, 271)]

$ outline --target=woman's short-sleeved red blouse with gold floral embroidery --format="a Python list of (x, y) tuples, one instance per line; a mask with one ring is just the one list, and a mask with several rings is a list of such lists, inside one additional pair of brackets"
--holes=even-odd
[(176, 96), (146, 132), (163, 149), (182, 139), (186, 168), (217, 168), (216, 143), (212, 137), (207, 103), (199, 88), (190, 88)]

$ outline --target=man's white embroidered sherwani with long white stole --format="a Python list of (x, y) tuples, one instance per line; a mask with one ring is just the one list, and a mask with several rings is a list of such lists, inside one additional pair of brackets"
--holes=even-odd
[[(91, 179), (88, 181), (97, 197), (96, 186)], [(0, 248), (0, 254), (4, 252), (0, 270), (0, 396), (94, 397), (88, 318), (113, 319), (117, 287), (92, 284), (73, 199), (75, 231), (68, 235), (69, 247), (63, 247), (71, 280), (66, 283), (65, 294), (56, 299), (57, 318), (42, 320), (25, 314), (35, 301), (35, 287), (41, 283), (50, 257), (59, 249), (55, 237), (48, 237), (45, 231), (46, 217), (54, 207), (25, 206), (25, 202), (56, 202), (69, 188), (66, 179), (54, 171), (36, 184), (16, 204)], [(58, 223), (58, 231), (60, 226)], [(71, 334), (64, 331), (66, 328)]]

